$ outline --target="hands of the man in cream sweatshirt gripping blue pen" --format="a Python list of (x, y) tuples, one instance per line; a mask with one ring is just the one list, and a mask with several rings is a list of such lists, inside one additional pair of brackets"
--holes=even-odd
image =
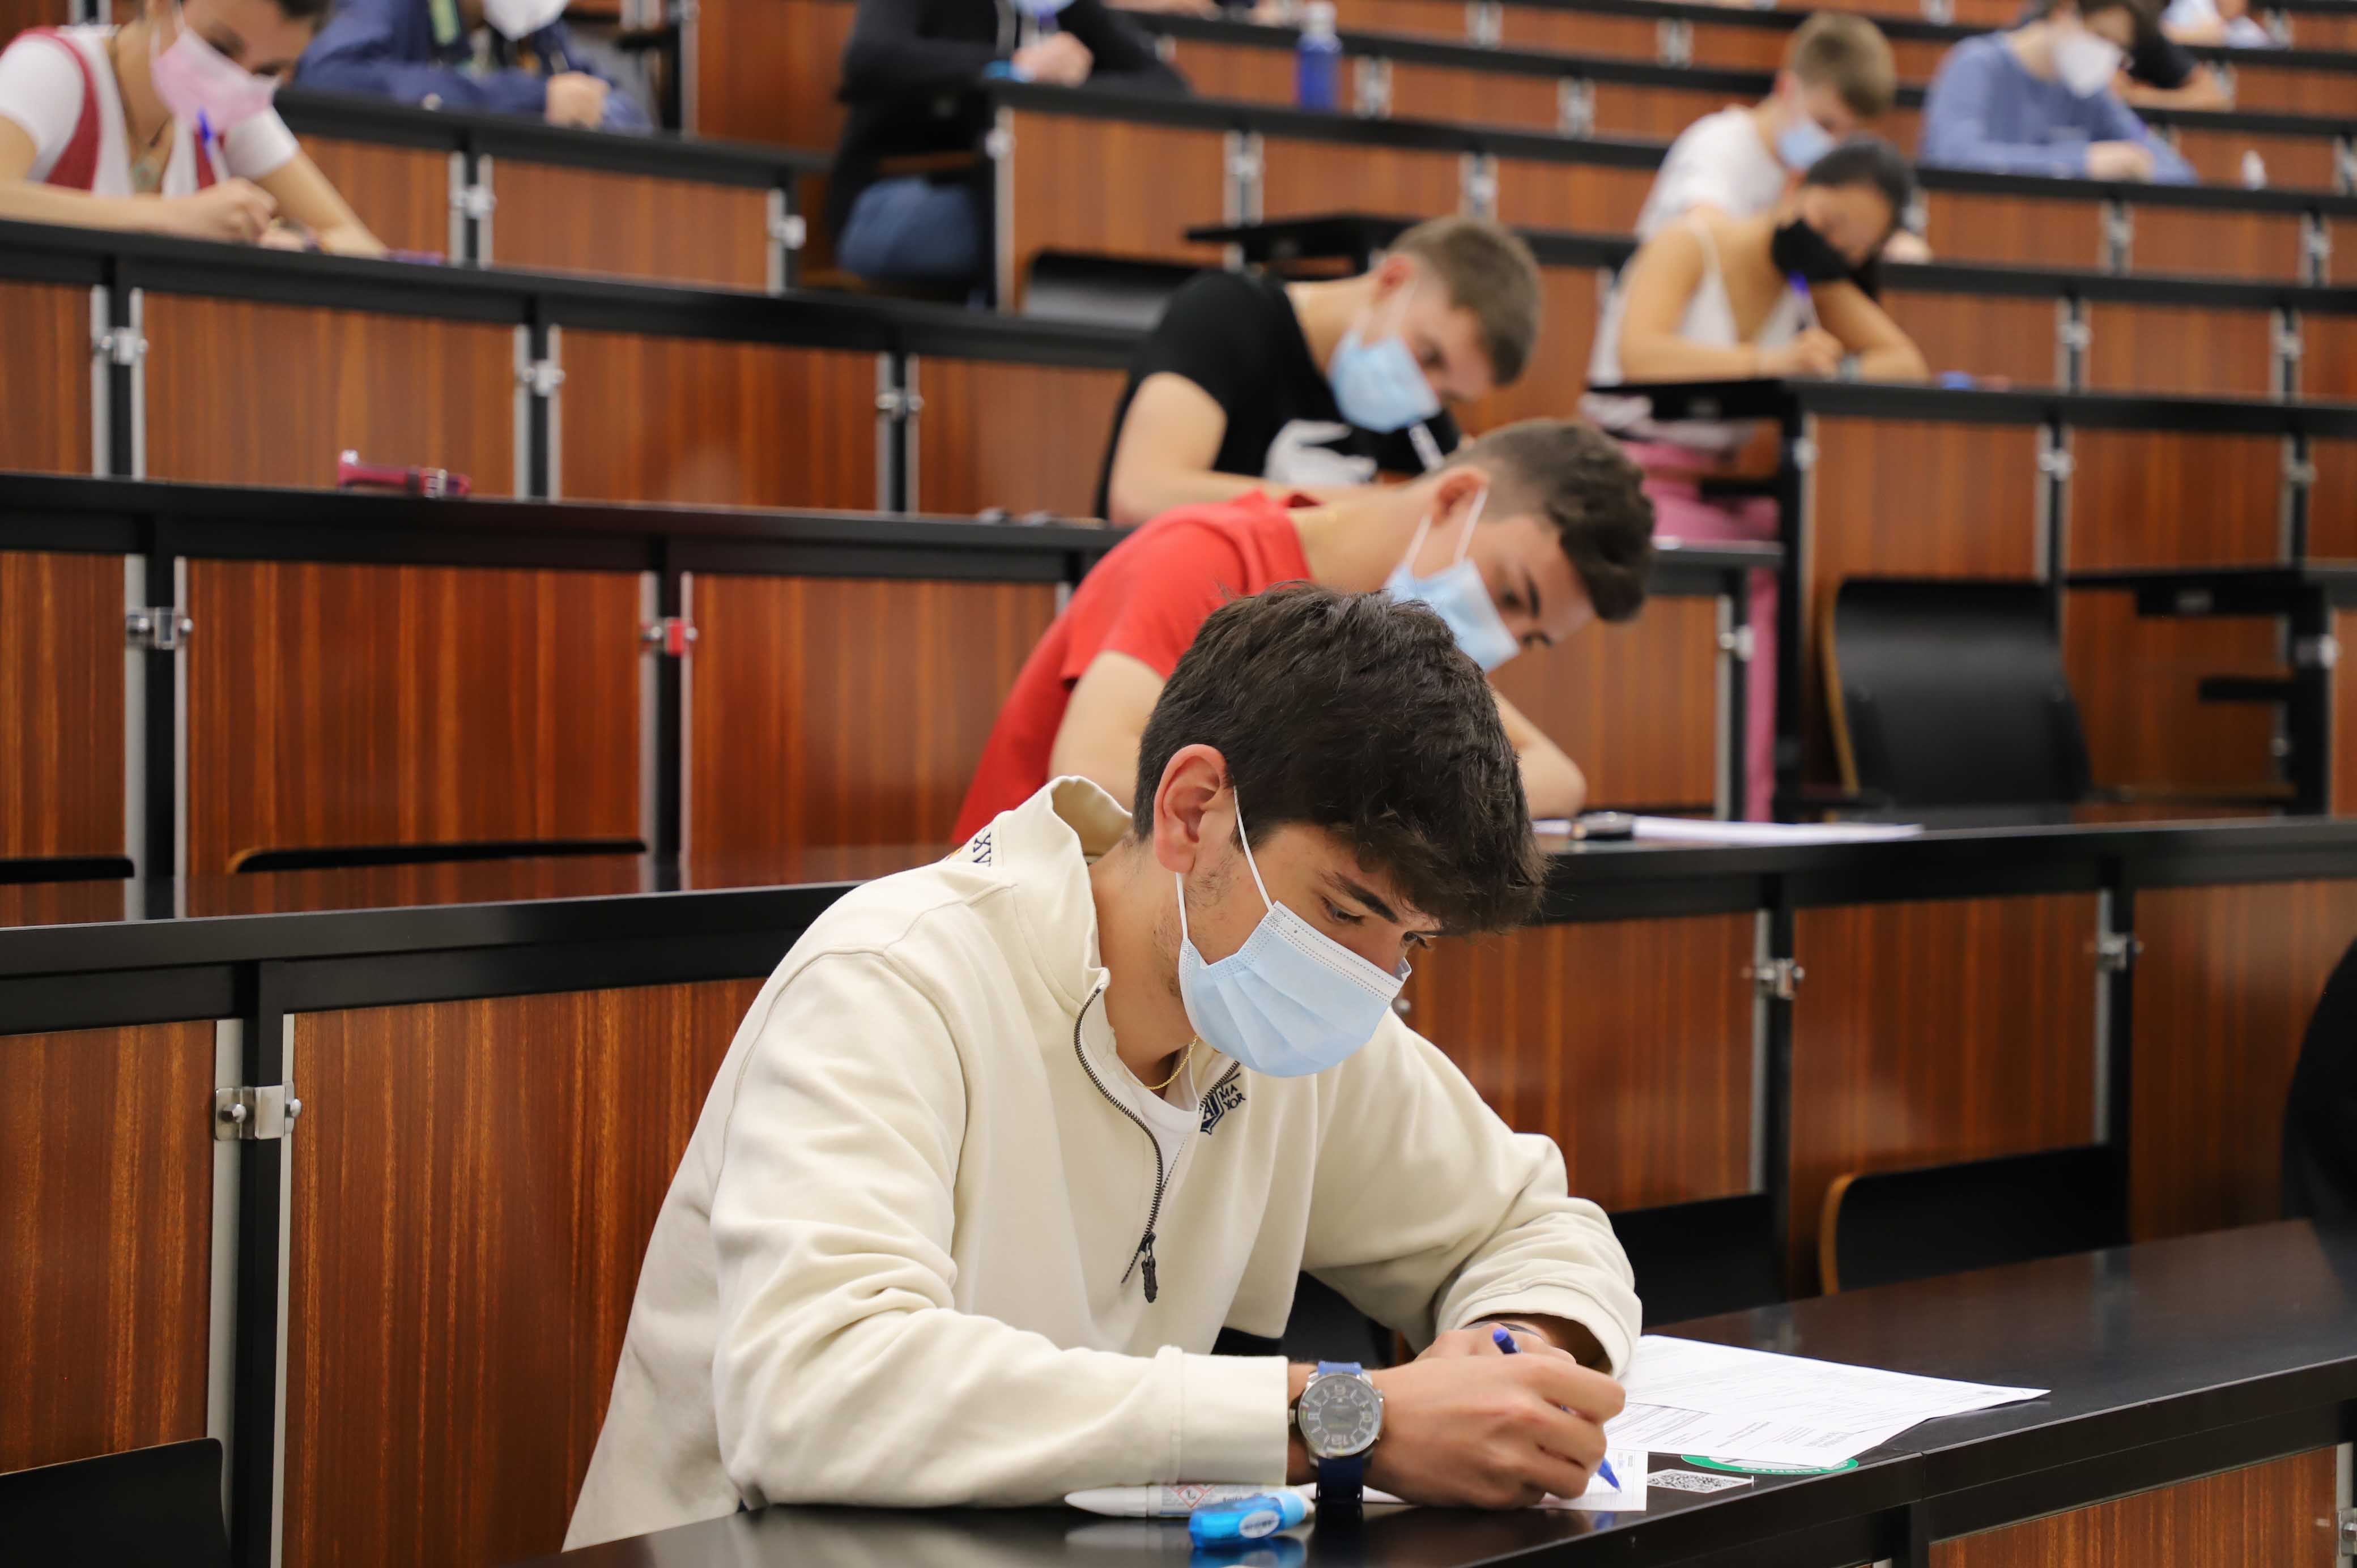
[[(1487, 1339), (1487, 1330), (1480, 1332)], [(1442, 1337), (1447, 1339), (1447, 1335)], [(1435, 1349), (1440, 1342), (1433, 1342)], [(1605, 1422), (1626, 1396), (1570, 1356), (1424, 1353), (1374, 1372), (1384, 1436), (1367, 1485), (1431, 1507), (1523, 1509), (1549, 1493), (1577, 1497), (1605, 1457)]]

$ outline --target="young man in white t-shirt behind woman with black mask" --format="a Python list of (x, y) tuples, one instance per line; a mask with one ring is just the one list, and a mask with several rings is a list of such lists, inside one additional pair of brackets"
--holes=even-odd
[[(1638, 212), (1636, 238), (1650, 241), (1695, 212), (1768, 212), (1808, 165), (1890, 113), (1897, 85), (1881, 28), (1843, 12), (1810, 17), (1784, 47), (1784, 66), (1765, 99), (1706, 113), (1669, 144)], [(1907, 262), (1928, 252), (1900, 229), (1883, 255)]]

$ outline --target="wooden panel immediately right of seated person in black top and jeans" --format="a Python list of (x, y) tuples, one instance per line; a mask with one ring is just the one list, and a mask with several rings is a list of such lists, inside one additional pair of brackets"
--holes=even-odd
[[(1181, 236), (1228, 210), (1221, 132), (1023, 111), (1009, 120), (1014, 167), (1004, 179), (1011, 184), (1018, 290), (1039, 250), (1096, 250), (1219, 266), (1216, 245), (1188, 245)], [(1374, 156), (1369, 149), (1334, 151)], [(1141, 179), (1138, 170), (1153, 170), (1153, 179)], [(1346, 205), (1353, 203), (1327, 200), (1318, 210)], [(1445, 210), (1454, 205), (1452, 198)], [(1018, 302), (1002, 304), (1011, 309)]]

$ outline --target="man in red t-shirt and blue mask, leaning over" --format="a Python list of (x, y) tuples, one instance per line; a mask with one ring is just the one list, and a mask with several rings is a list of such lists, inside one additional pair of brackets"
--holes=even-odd
[[(1301, 498), (1294, 498), (1301, 500)], [(957, 813), (959, 839), (1080, 773), (1124, 806), (1138, 736), (1195, 627), (1275, 582), (1431, 604), (1485, 670), (1645, 604), (1652, 502), (1619, 446), (1577, 420), (1525, 420), (1417, 483), (1287, 507), (1254, 490), (1178, 507), (1122, 540), (1032, 648)], [(1586, 778), (1499, 698), (1532, 816), (1570, 816)]]

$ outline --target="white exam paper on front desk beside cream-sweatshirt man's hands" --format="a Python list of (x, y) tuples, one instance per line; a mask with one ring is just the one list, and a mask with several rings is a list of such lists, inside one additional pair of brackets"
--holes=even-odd
[(1963, 1415), (2046, 1394), (1669, 1335), (1638, 1339), (1622, 1386), (1629, 1405), (1605, 1422), (1605, 1438), (1615, 1450), (1808, 1467), (1855, 1460), (1935, 1415)]

